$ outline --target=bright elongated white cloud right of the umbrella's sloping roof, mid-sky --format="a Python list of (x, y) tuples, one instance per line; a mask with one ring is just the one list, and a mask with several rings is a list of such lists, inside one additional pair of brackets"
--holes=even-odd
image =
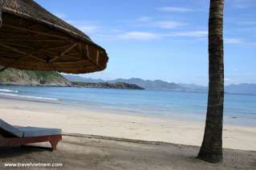
[(161, 35), (142, 31), (131, 31), (128, 33), (120, 34), (121, 39), (136, 39), (136, 40), (152, 40), (161, 38)]

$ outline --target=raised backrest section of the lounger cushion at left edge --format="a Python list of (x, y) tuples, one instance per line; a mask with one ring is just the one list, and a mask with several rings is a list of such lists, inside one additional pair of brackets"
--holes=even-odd
[(10, 124), (7, 124), (5, 121), (2, 121), (2, 119), (0, 119), (0, 132), (2, 136), (6, 136), (6, 137), (12, 137), (12, 136), (22, 137), (23, 136), (22, 131), (20, 131), (18, 128), (14, 128), (14, 126)]

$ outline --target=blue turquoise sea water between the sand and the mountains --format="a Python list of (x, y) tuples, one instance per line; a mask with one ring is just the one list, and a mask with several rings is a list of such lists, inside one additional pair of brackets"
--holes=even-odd
[[(0, 97), (195, 121), (205, 121), (207, 105), (206, 93), (160, 90), (0, 85)], [(256, 96), (226, 94), (224, 115), (226, 123), (256, 125)]]

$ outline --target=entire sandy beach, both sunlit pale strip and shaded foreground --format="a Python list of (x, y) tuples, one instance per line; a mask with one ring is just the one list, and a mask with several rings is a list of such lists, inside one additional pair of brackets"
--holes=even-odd
[[(0, 148), (6, 164), (61, 164), (31, 169), (255, 169), (256, 127), (224, 125), (224, 160), (209, 164), (196, 158), (204, 123), (84, 109), (59, 102), (1, 97), (0, 115), (11, 125), (62, 128), (55, 152), (48, 143)], [(231, 149), (232, 148), (232, 149)], [(17, 168), (7, 168), (17, 169)]]

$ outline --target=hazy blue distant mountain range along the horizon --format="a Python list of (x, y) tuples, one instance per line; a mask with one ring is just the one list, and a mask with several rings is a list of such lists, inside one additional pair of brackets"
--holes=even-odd
[[(91, 83), (99, 83), (99, 82), (108, 82), (108, 83), (116, 83), (116, 82), (124, 82), (128, 84), (139, 85), (143, 89), (158, 89), (158, 90), (173, 90), (173, 91), (181, 91), (181, 92), (196, 92), (196, 93), (206, 93), (208, 91), (208, 87), (202, 85), (194, 85), (194, 84), (184, 84), (184, 83), (169, 83), (167, 81), (148, 81), (140, 78), (130, 78), (130, 79), (116, 79), (112, 81), (104, 81), (102, 79), (92, 79), (79, 77), (74, 75), (63, 75), (69, 81), (79, 81), (79, 82), (91, 82)], [(227, 85), (225, 87), (226, 93), (236, 93), (236, 94), (249, 94), (256, 95), (256, 84), (239, 84), (239, 85)]]

